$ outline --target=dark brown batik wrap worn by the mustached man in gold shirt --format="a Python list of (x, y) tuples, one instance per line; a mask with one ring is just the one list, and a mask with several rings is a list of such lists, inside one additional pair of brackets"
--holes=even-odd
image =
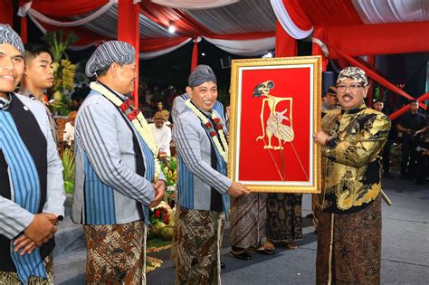
[[(319, 212), (317, 284), (328, 284), (331, 216)], [(379, 284), (381, 265), (380, 196), (353, 214), (334, 214), (332, 284)]]

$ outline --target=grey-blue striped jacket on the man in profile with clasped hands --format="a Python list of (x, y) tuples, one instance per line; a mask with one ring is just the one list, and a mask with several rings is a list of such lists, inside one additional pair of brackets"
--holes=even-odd
[(143, 210), (153, 200), (155, 189), (152, 177), (145, 174), (153, 176), (153, 155), (124, 114), (94, 90), (76, 119), (75, 163), (75, 223), (148, 219)]

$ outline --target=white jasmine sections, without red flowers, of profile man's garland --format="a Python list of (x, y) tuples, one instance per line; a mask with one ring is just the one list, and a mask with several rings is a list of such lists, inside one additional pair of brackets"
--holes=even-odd
[[(103, 85), (95, 81), (91, 82), (90, 88), (91, 90), (96, 90), (97, 92), (101, 93), (104, 97), (110, 100), (110, 102), (112, 102), (118, 107), (120, 107), (120, 105), (122, 105), (123, 103), (123, 101), (120, 100), (118, 96), (116, 96), (106, 87), (104, 87)], [(157, 181), (157, 178), (161, 173), (161, 166), (159, 165), (159, 160), (157, 159), (159, 147), (155, 144), (155, 139), (153, 138), (152, 132), (150, 131), (148, 122), (146, 121), (145, 117), (143, 117), (143, 115), (141, 114), (141, 111), (139, 111), (137, 117), (135, 119), (132, 119), (131, 123), (133, 124), (134, 128), (137, 129), (138, 134), (140, 135), (141, 138), (143, 138), (146, 145), (149, 147), (150, 151), (154, 155), (155, 181)]]

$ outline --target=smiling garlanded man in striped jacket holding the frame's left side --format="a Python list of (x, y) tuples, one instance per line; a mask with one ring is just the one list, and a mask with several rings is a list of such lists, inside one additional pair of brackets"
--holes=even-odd
[(225, 176), (227, 130), (213, 109), (216, 83), (212, 69), (198, 65), (189, 75), (186, 108), (176, 112), (176, 284), (220, 284), (220, 243), (229, 195), (249, 193)]

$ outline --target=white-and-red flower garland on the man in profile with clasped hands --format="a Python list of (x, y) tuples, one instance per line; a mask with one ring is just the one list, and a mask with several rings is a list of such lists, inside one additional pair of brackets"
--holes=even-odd
[(127, 116), (127, 118), (131, 121), (134, 128), (137, 129), (138, 134), (140, 135), (141, 138), (143, 138), (146, 145), (149, 147), (150, 151), (154, 155), (155, 181), (157, 181), (157, 177), (161, 173), (161, 166), (159, 165), (159, 161), (157, 159), (159, 147), (155, 144), (155, 139), (153, 138), (152, 132), (150, 131), (148, 122), (146, 121), (145, 117), (143, 117), (140, 110), (134, 108), (131, 100), (129, 99), (125, 101), (120, 100), (118, 96), (113, 94), (112, 91), (107, 89), (99, 82), (96, 82), (96, 81), (91, 82), (90, 88), (91, 90), (96, 90), (104, 97), (106, 97), (108, 100), (110, 100), (110, 102), (112, 102), (117, 107), (119, 107), (119, 109), (121, 109), (124, 112), (124, 114)]

